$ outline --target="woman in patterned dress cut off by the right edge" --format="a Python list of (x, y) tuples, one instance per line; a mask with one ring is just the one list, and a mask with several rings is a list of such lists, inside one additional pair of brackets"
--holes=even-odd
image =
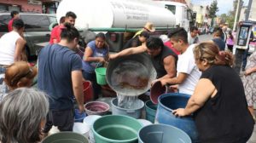
[(250, 55), (247, 61), (246, 71), (244, 72), (243, 86), (247, 98), (248, 109), (251, 112), (254, 120), (255, 115), (253, 111), (253, 104), (256, 102), (256, 52)]

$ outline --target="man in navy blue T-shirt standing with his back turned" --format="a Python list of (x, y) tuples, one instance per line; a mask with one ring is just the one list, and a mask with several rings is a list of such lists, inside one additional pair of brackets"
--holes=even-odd
[(43, 132), (52, 125), (61, 131), (73, 130), (73, 97), (84, 112), (82, 60), (73, 52), (79, 42), (79, 31), (65, 24), (61, 42), (49, 44), (38, 56), (38, 89), (49, 94), (49, 113)]

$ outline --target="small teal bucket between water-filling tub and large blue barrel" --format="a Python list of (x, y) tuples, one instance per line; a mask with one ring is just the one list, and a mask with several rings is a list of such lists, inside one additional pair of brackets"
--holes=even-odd
[(146, 119), (151, 123), (154, 123), (156, 109), (157, 105), (155, 105), (151, 100), (145, 102)]

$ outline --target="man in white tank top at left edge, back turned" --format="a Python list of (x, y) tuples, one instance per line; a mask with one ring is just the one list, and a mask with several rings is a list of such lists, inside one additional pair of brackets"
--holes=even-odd
[(26, 41), (22, 37), (24, 22), (21, 19), (13, 21), (13, 31), (9, 31), (0, 38), (0, 66), (9, 66), (15, 61), (24, 60), (22, 52)]

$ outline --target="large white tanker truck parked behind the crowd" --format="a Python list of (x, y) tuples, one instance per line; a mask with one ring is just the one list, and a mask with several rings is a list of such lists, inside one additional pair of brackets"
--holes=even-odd
[[(175, 15), (170, 5), (175, 6)], [(82, 36), (85, 43), (92, 40), (96, 32), (103, 31), (106, 32), (110, 51), (118, 52), (147, 22), (154, 24), (155, 35), (177, 25), (184, 26), (187, 30), (188, 20), (184, 20), (184, 13), (187, 11), (182, 12), (185, 10), (182, 8), (184, 5), (181, 3), (150, 0), (62, 0), (56, 17), (59, 21), (67, 11), (73, 11), (77, 14), (75, 26), (84, 31)]]

